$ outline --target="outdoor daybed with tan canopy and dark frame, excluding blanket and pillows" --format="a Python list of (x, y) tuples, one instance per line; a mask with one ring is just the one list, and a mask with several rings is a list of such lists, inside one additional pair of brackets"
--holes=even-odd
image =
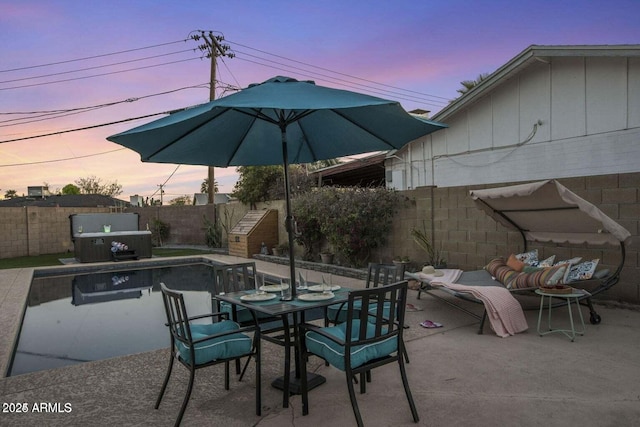
[[(594, 275), (593, 278), (570, 283), (574, 288), (587, 291), (580, 301), (589, 307), (591, 323), (600, 323), (601, 317), (593, 307), (591, 296), (611, 288), (618, 282), (625, 260), (625, 245), (631, 237), (629, 231), (556, 180), (472, 190), (470, 196), (476, 206), (496, 222), (520, 233), (524, 243), (523, 252), (527, 251), (528, 242), (618, 246), (620, 262), (615, 270), (601, 270), (600, 274)], [(435, 291), (445, 291), (467, 301), (481, 302), (469, 293), (432, 286), (431, 282), (424, 280), (419, 273), (406, 273), (406, 276), (421, 281), (418, 298), (422, 292), (427, 292), (467, 314), (480, 318), (464, 307), (437, 295)], [(504, 286), (500, 281), (495, 280), (487, 269), (462, 272), (455, 283), (468, 286)], [(531, 288), (510, 289), (512, 293), (523, 290), (530, 291)], [(486, 310), (481, 318), (480, 333), (482, 333), (485, 318)]]

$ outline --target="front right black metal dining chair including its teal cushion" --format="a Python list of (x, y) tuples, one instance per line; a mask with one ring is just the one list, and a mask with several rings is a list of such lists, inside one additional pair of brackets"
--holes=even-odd
[[(345, 372), (351, 407), (358, 426), (362, 426), (363, 421), (354, 390), (354, 376), (360, 375), (360, 393), (363, 394), (366, 392), (366, 374), (388, 363), (397, 363), (413, 421), (419, 421), (402, 357), (405, 351), (403, 324), (406, 302), (406, 281), (351, 291), (344, 323), (324, 328), (310, 323), (300, 325), (303, 415), (309, 413), (307, 358), (315, 355)], [(359, 307), (374, 308), (365, 311)]]

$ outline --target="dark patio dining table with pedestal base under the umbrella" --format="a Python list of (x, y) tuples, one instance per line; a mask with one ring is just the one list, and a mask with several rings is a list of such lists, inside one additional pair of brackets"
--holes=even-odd
[[(313, 284), (311, 284), (313, 285)], [(312, 288), (312, 286), (309, 286)], [(255, 291), (239, 291), (218, 294), (215, 296), (220, 301), (229, 304), (235, 304), (251, 310), (257, 318), (258, 313), (266, 314), (269, 317), (279, 317), (283, 324), (283, 333), (278, 344), (284, 347), (284, 374), (276, 378), (272, 382), (272, 386), (283, 391), (282, 406), (289, 407), (289, 395), (301, 394), (300, 381), (300, 343), (298, 339), (298, 324), (305, 321), (305, 313), (311, 310), (328, 307), (333, 304), (340, 304), (348, 301), (349, 288), (343, 288), (332, 291), (333, 297), (310, 297), (310, 295), (319, 295), (318, 292), (310, 290), (297, 289), (295, 299), (291, 301), (281, 301), (280, 294), (273, 294), (275, 297), (266, 301), (249, 301), (251, 295), (255, 295)], [(305, 297), (305, 295), (307, 295)], [(243, 297), (245, 299), (243, 299)], [(305, 299), (310, 299), (306, 300)], [(279, 337), (280, 338), (280, 337)], [(295, 349), (295, 370), (291, 372), (291, 347)], [(292, 375), (293, 374), (293, 375)], [(307, 388), (309, 390), (323, 384), (326, 379), (318, 374), (307, 373)]]

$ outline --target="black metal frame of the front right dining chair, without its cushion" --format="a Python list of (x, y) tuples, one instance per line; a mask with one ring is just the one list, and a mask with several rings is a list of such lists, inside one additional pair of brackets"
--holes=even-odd
[[(359, 310), (359, 307), (355, 306), (356, 301), (360, 301), (362, 307), (369, 307), (370, 304), (375, 304), (375, 310)], [(385, 303), (388, 309), (385, 309)], [(358, 426), (363, 425), (362, 416), (358, 408), (358, 402), (356, 400), (356, 394), (354, 390), (354, 384), (352, 379), (355, 375), (360, 375), (360, 393), (366, 392), (365, 375), (377, 367), (386, 365), (388, 363), (398, 363), (400, 369), (400, 376), (402, 377), (402, 384), (404, 391), (409, 402), (413, 421), (418, 422), (419, 416), (416, 409), (413, 397), (411, 395), (411, 389), (409, 388), (409, 382), (407, 380), (407, 373), (404, 366), (404, 358), (401, 356), (406, 352), (403, 331), (404, 331), (404, 316), (407, 303), (407, 281), (401, 281), (386, 286), (378, 286), (375, 288), (368, 288), (362, 290), (356, 290), (349, 292), (349, 300), (347, 304), (347, 320), (346, 320), (346, 338), (344, 341), (337, 337), (327, 333), (324, 328), (310, 323), (303, 323), (300, 325), (300, 347), (301, 347), (301, 361), (302, 361), (302, 413), (307, 415), (309, 413), (309, 397), (306, 384), (307, 373), (307, 359), (310, 355), (315, 355), (308, 352), (306, 346), (306, 333), (316, 332), (323, 337), (337, 343), (344, 347), (345, 354), (345, 374), (347, 380), (347, 387), (349, 390), (349, 398), (351, 400), (351, 407), (356, 417)], [(375, 313), (373, 313), (375, 311)], [(360, 328), (355, 339), (351, 338), (352, 326), (354, 320), (360, 320)], [(373, 322), (373, 320), (375, 322)], [(372, 323), (375, 325), (375, 334), (372, 337), (366, 337), (367, 325)], [(361, 366), (351, 367), (351, 349), (356, 346), (375, 344), (388, 339), (397, 339), (398, 346), (397, 351), (386, 355), (384, 357), (370, 360)], [(318, 356), (318, 355), (316, 355)]]

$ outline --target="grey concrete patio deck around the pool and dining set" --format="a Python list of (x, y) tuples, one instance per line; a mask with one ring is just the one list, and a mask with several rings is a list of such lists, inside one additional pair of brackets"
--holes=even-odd
[[(210, 255), (224, 262), (238, 259)], [(256, 262), (258, 269), (286, 275), (287, 266)], [(313, 274), (309, 276), (313, 279)], [(319, 273), (318, 273), (319, 274)], [(0, 270), (0, 368), (5, 372), (11, 345), (26, 301), (31, 269)], [(335, 279), (334, 279), (335, 280)], [(344, 278), (346, 286), (362, 286)], [(571, 342), (562, 334), (539, 337), (537, 311), (526, 311), (527, 332), (497, 337), (487, 325), (429, 296), (409, 299), (422, 311), (407, 312), (409, 382), (421, 426), (632, 426), (640, 419), (640, 311), (597, 306), (599, 325), (586, 325)], [(161, 309), (160, 307), (158, 308)], [(481, 313), (481, 306), (469, 304)], [(583, 308), (584, 313), (586, 309)], [(567, 316), (554, 309), (554, 323)], [(588, 319), (588, 316), (586, 316)], [(442, 323), (424, 329), (422, 320)], [(282, 408), (280, 390), (271, 380), (282, 372), (282, 348), (264, 342), (263, 414), (254, 413), (253, 376), (231, 390), (221, 386), (222, 371), (196, 374), (185, 426), (348, 426), (355, 419), (344, 374), (311, 360), (310, 368), (327, 382), (310, 395), (310, 414), (301, 414), (300, 396)], [(170, 426), (178, 413), (187, 372), (176, 368), (158, 410), (168, 350), (158, 350), (10, 378), (0, 378), (2, 426)], [(253, 365), (251, 365), (253, 366)], [(250, 368), (252, 369), (252, 368)], [(397, 368), (373, 373), (365, 395), (358, 394), (368, 426), (412, 426)], [(26, 403), (27, 413), (11, 404)], [(54, 412), (34, 412), (34, 404), (51, 404)], [(55, 405), (58, 404), (58, 405)], [(66, 405), (66, 406), (65, 406)]]

